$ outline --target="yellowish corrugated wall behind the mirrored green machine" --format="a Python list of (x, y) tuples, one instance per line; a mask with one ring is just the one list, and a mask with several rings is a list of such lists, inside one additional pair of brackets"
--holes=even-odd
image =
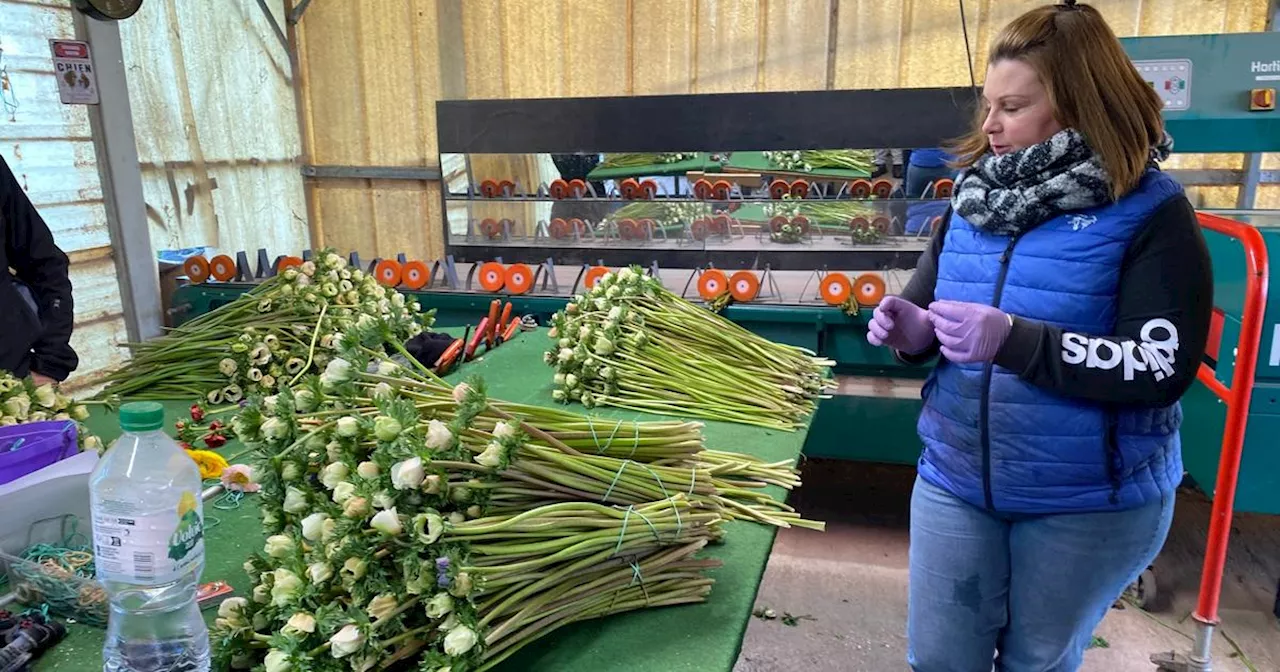
[[(995, 32), (1041, 4), (1044, 0), (965, 3), (979, 79)], [(1094, 5), (1117, 35), (1133, 36), (1262, 31), (1268, 3), (1096, 0)], [(433, 104), (442, 96), (969, 83), (954, 0), (312, 3), (298, 33), (306, 136), (317, 164), (436, 168)], [(1242, 169), (1243, 157), (1181, 155), (1170, 165)], [(1265, 165), (1280, 166), (1280, 157), (1268, 156)], [(326, 243), (365, 255), (435, 256), (440, 253), (438, 188), (435, 182), (325, 179), (308, 186), (308, 198)], [(1192, 191), (1201, 205), (1235, 206), (1236, 187)], [(1260, 189), (1258, 206), (1280, 207), (1280, 187)]]

